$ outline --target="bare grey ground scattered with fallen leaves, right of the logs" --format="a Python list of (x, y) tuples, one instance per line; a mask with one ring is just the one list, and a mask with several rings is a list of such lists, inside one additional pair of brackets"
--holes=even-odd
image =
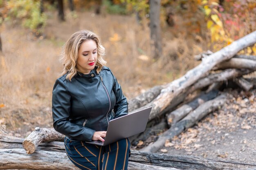
[(255, 163), (256, 89), (225, 92), (227, 102), (222, 108), (166, 141), (159, 153)]

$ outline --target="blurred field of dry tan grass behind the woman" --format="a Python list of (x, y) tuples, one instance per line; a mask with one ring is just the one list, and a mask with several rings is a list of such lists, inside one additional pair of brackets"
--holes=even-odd
[[(202, 52), (203, 42), (188, 39), (177, 29), (163, 31), (163, 55), (150, 59), (150, 30), (134, 17), (78, 13), (58, 22), (56, 13), (45, 27), (46, 39), (34, 39), (20, 26), (2, 26), (3, 55), (0, 56), (0, 124), (7, 129), (34, 130), (52, 127), (52, 87), (61, 73), (59, 54), (72, 33), (88, 29), (98, 33), (106, 48), (105, 60), (119, 80), (125, 95), (165, 84), (182, 76), (198, 63), (193, 55)], [(193, 45), (192, 45), (193, 44)]]

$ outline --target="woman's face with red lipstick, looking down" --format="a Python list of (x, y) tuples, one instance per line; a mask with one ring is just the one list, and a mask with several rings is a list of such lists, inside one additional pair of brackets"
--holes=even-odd
[(79, 50), (76, 68), (83, 74), (89, 74), (97, 63), (97, 44), (94, 40), (84, 41)]

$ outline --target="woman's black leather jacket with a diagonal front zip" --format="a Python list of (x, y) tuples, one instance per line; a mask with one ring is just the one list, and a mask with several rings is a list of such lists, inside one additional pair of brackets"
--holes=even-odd
[(78, 73), (71, 82), (63, 75), (54, 84), (53, 126), (69, 139), (91, 141), (95, 131), (106, 131), (110, 120), (127, 114), (127, 99), (108, 67)]

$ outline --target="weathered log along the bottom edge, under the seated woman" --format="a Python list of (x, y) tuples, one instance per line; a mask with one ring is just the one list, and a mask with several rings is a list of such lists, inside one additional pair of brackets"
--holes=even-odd
[[(0, 149), (0, 170), (79, 170), (64, 152), (36, 150), (29, 155), (23, 149)], [(155, 168), (155, 169), (153, 169)], [(256, 168), (255, 163), (238, 163), (203, 159), (193, 156), (166, 155), (132, 150), (128, 170), (248, 170)]]

